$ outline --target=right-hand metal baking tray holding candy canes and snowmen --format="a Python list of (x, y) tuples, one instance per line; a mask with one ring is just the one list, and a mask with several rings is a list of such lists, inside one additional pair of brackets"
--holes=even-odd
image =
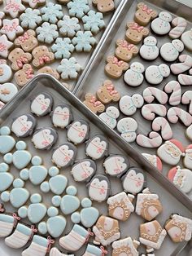
[[(85, 69), (84, 76), (81, 80), (76, 85), (75, 90), (73, 90), (73, 93), (82, 101), (85, 99), (85, 93), (91, 92), (95, 94), (98, 86), (101, 86), (103, 84), (103, 81), (106, 79), (110, 79), (113, 84), (116, 86), (116, 89), (120, 92), (120, 95), (133, 95), (134, 93), (139, 93), (142, 94), (142, 91), (148, 87), (149, 85), (147, 84), (146, 80), (144, 79), (144, 82), (142, 83), (141, 86), (137, 87), (132, 87), (128, 86), (125, 84), (123, 76), (120, 77), (120, 79), (112, 79), (110, 77), (107, 77), (107, 75), (104, 73), (104, 67), (106, 64), (106, 59), (107, 56), (109, 55), (114, 55), (115, 54), (115, 49), (116, 49), (116, 40), (117, 39), (123, 39), (124, 34), (126, 31), (126, 24), (129, 21), (133, 20), (134, 13), (137, 8), (137, 3), (141, 2), (139, 0), (133, 1), (133, 0), (124, 0), (124, 4), (120, 7), (120, 11), (118, 15), (114, 17), (112, 20), (112, 26), (111, 28), (108, 28), (106, 31), (105, 38), (103, 42), (101, 43), (101, 46), (98, 50), (98, 52), (94, 55), (94, 57), (89, 61), (89, 64), (87, 65), (87, 68)], [(175, 17), (177, 16), (183, 16), (186, 20), (188, 20), (188, 26), (187, 29), (190, 29), (192, 27), (192, 9), (190, 7), (185, 6), (184, 4), (181, 4), (180, 2), (170, 0), (159, 0), (159, 1), (153, 1), (153, 0), (147, 0), (147, 1), (142, 1), (145, 2), (146, 5), (151, 7), (152, 9), (160, 12), (160, 11), (169, 11), (171, 12), (172, 16)], [(153, 4), (155, 3), (155, 5)], [(148, 28), (150, 29), (150, 25), (148, 25)], [(187, 30), (186, 29), (186, 30)], [(150, 29), (151, 31), (151, 29)], [(168, 38), (167, 36), (164, 37), (159, 37), (155, 35), (154, 33), (150, 32), (150, 35), (154, 35), (157, 40), (158, 40), (158, 46), (162, 46), (164, 42), (171, 42), (171, 38)], [(142, 45), (142, 42), (138, 44), (138, 47)], [(188, 51), (183, 51), (182, 54), (191, 54)], [(161, 64), (165, 63), (164, 60), (162, 60), (160, 57), (158, 57), (154, 61), (146, 61), (143, 60), (139, 55), (134, 57), (130, 63), (133, 63), (134, 61), (141, 62), (144, 64), (145, 68), (152, 64)], [(175, 80), (177, 77), (173, 76), (172, 74), (164, 79), (163, 82), (159, 86), (156, 86), (159, 89), (164, 88), (164, 86), (172, 80)], [(185, 92), (185, 90), (190, 90), (190, 86), (181, 86), (182, 93)], [(111, 105), (111, 104), (109, 104)], [(118, 104), (114, 104), (116, 107), (118, 107)], [(108, 105), (107, 105), (108, 106)], [(187, 106), (184, 105), (179, 105), (180, 108), (187, 109)], [(122, 113), (120, 114), (120, 117), (118, 120), (121, 118), (125, 117)], [(138, 123), (138, 128), (137, 128), (137, 134), (142, 134), (142, 135), (148, 135), (149, 132), (152, 130), (151, 129), (151, 121), (146, 121), (141, 114), (141, 111), (138, 109), (137, 113), (135, 113), (133, 117), (137, 123)], [(178, 122), (176, 125), (171, 125), (172, 126), (172, 131), (173, 131), (173, 136), (174, 138), (177, 138), (181, 140), (181, 142), (187, 146), (191, 142), (189, 139), (185, 137), (185, 126), (183, 126), (180, 122)], [(123, 139), (122, 139), (123, 140)], [(154, 148), (142, 148), (137, 145), (137, 143), (130, 143), (131, 146), (136, 149), (138, 152), (148, 152), (150, 154), (156, 154), (156, 149)], [(182, 164), (180, 163), (182, 166)], [(164, 170), (163, 174), (166, 175), (168, 173), (168, 170), (172, 168), (171, 166), (168, 166), (164, 164)], [(192, 191), (188, 195), (183, 195), (183, 197), (190, 197), (190, 200), (192, 200)], [(191, 205), (191, 203), (190, 203)]]

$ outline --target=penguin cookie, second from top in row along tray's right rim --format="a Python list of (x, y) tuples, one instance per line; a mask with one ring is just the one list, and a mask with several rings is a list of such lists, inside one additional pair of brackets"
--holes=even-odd
[(63, 129), (72, 121), (72, 109), (67, 104), (59, 104), (50, 113), (50, 117), (55, 127)]

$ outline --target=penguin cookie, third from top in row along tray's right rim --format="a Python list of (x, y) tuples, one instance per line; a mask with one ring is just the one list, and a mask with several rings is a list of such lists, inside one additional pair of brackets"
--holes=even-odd
[(67, 129), (68, 141), (74, 144), (80, 144), (89, 139), (89, 124), (84, 120), (73, 121)]

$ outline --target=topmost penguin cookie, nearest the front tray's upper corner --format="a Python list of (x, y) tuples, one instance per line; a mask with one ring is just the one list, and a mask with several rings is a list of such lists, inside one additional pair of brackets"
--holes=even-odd
[(31, 112), (36, 114), (37, 117), (46, 116), (51, 112), (54, 100), (51, 95), (46, 92), (42, 92), (37, 95), (31, 103)]

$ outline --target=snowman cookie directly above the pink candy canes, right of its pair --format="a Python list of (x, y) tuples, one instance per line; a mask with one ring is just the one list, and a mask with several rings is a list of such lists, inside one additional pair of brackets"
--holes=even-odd
[(151, 65), (146, 68), (146, 81), (152, 85), (159, 85), (164, 80), (164, 77), (170, 75), (170, 69), (167, 64), (160, 64), (159, 66)]

